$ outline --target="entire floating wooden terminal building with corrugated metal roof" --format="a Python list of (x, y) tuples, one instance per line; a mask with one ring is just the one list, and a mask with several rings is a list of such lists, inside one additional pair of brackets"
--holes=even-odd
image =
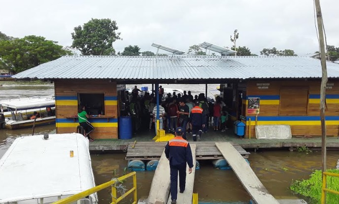
[[(326, 125), (339, 132), (339, 64), (327, 62)], [(290, 125), (293, 136), (319, 136), (321, 65), (309, 57), (64, 56), (18, 73), (55, 82), (57, 133), (75, 132), (77, 106), (88, 104), (93, 138), (119, 138), (119, 92), (125, 84), (222, 84), (234, 119)], [(203, 92), (203, 90), (202, 90)], [(251, 119), (251, 124), (249, 123)], [(257, 119), (257, 120), (256, 120)]]

